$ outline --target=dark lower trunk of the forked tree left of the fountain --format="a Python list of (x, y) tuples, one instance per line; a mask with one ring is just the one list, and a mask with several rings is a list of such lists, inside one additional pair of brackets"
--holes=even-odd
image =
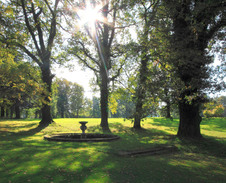
[(42, 71), (42, 81), (46, 84), (46, 94), (44, 94), (45, 102), (42, 104), (41, 112), (42, 112), (42, 120), (40, 121), (40, 126), (48, 126), (53, 122), (53, 118), (51, 115), (50, 108), (50, 98), (51, 98), (51, 86), (52, 86), (52, 74), (50, 71), (49, 62), (45, 61), (43, 66), (41, 67)]

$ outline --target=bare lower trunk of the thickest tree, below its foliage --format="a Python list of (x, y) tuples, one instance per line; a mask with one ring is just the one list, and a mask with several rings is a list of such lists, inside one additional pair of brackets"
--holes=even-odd
[(177, 135), (179, 137), (200, 138), (200, 104), (189, 103), (186, 100), (179, 102), (180, 124)]

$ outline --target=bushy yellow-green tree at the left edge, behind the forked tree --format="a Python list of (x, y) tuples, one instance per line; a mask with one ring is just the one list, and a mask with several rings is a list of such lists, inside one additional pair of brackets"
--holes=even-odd
[(11, 109), (11, 117), (15, 112), (15, 118), (19, 119), (22, 108), (38, 106), (38, 103), (42, 100), (41, 93), (44, 90), (42, 82), (40, 82), (40, 72), (37, 67), (21, 61), (18, 55), (16, 57), (10, 56), (10, 53), (8, 50), (4, 50), (4, 47), (1, 48), (1, 51), (8, 55), (8, 57), (2, 55), (0, 62), (2, 117), (4, 117), (4, 113), (9, 117), (8, 111)]

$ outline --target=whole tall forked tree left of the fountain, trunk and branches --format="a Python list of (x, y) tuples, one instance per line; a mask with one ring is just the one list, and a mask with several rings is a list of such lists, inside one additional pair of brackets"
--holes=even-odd
[(5, 27), (0, 34), (0, 41), (20, 49), (36, 64), (38, 64), (42, 81), (45, 83), (45, 100), (42, 101), (42, 120), (40, 126), (47, 126), (53, 119), (50, 110), (51, 58), (54, 40), (57, 35), (57, 21), (60, 0), (48, 1), (10, 1), (1, 4), (5, 16), (1, 22)]

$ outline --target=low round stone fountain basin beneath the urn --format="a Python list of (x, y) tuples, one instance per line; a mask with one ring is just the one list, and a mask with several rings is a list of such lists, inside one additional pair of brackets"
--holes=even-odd
[(112, 134), (86, 133), (62, 133), (56, 135), (45, 135), (44, 139), (58, 142), (108, 142), (117, 140), (120, 137)]

